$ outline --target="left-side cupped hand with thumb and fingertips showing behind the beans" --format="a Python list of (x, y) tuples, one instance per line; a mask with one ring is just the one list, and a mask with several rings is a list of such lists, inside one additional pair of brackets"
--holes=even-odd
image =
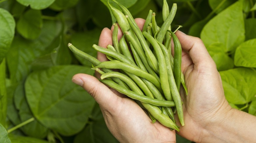
[[(136, 19), (140, 29), (145, 20)], [(113, 29), (113, 26), (112, 26)], [(121, 38), (121, 29), (118, 30), (118, 39)], [(107, 47), (112, 44), (112, 31), (104, 28), (101, 32), (98, 45)], [(98, 53), (100, 61), (106, 61), (104, 54)], [(100, 75), (96, 73), (96, 77)], [(118, 93), (99, 82), (95, 77), (87, 74), (76, 74), (73, 82), (83, 87), (99, 104), (105, 122), (110, 132), (120, 142), (176, 142), (175, 130), (152, 120), (133, 100)]]

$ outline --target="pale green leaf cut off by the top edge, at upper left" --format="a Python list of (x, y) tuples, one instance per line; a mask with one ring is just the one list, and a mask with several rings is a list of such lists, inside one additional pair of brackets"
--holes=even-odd
[(33, 9), (45, 9), (49, 7), (55, 0), (40, 0), (40, 1), (35, 1), (35, 0), (16, 0), (20, 4), (28, 7), (30, 6)]

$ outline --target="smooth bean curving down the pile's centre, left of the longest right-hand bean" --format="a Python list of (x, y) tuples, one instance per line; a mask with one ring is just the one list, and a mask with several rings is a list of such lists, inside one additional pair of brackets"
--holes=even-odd
[(143, 35), (145, 36), (145, 38), (147, 40), (150, 41), (154, 50), (156, 51), (156, 54), (158, 57), (158, 62), (159, 62), (160, 83), (161, 83), (161, 87), (162, 87), (164, 96), (165, 96), (166, 100), (172, 100), (170, 86), (169, 86), (169, 82), (168, 82), (168, 74), (167, 74), (167, 70), (166, 70), (166, 63), (164, 60), (165, 58), (163, 56), (161, 48), (160, 48), (159, 44), (157, 43), (157, 41), (151, 35), (149, 35), (147, 32), (144, 31)]

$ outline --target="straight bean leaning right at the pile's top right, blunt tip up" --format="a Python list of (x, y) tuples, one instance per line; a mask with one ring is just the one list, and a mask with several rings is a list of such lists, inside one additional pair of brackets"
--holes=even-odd
[(165, 37), (165, 33), (167, 32), (167, 29), (169, 28), (170, 24), (172, 23), (173, 21), (173, 18), (176, 14), (176, 10), (177, 10), (177, 4), (174, 3), (172, 5), (172, 9), (167, 17), (167, 19), (163, 22), (161, 28), (160, 28), (160, 31), (157, 35), (157, 41), (159, 41), (159, 43), (162, 43), (163, 42), (163, 39)]

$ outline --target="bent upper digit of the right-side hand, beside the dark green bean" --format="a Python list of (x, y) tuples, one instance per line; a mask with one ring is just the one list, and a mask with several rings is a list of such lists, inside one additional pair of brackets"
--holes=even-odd
[(200, 38), (186, 35), (179, 30), (175, 34), (181, 42), (182, 49), (189, 52), (195, 67), (216, 67)]

